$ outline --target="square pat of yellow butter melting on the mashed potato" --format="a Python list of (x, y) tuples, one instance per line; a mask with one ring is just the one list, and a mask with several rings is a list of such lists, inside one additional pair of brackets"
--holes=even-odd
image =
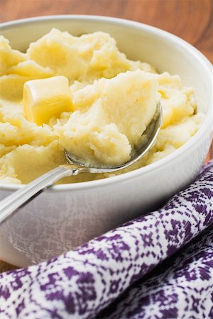
[(28, 121), (38, 125), (72, 111), (72, 94), (66, 77), (28, 81), (23, 87), (23, 112)]

